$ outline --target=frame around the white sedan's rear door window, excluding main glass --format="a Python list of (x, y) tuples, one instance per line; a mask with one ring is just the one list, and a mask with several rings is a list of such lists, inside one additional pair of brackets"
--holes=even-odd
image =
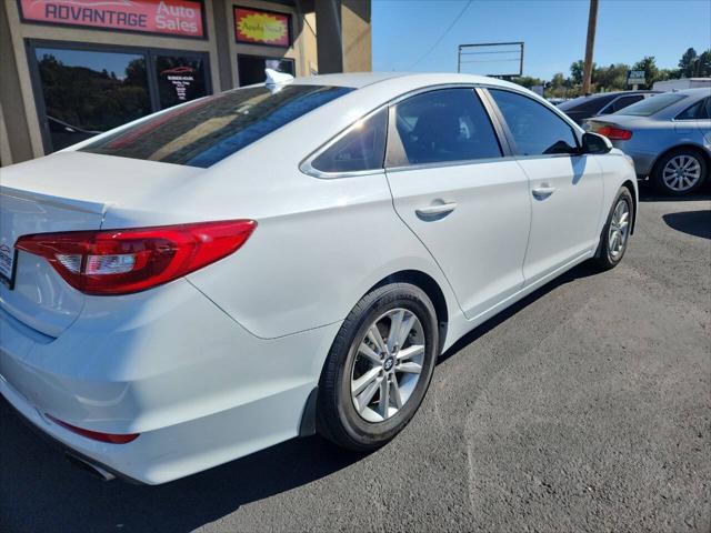
[[(430, 86), (425, 88), (415, 89), (413, 91), (405, 92), (399, 97), (392, 99), (389, 102), (390, 111), (388, 113), (388, 143), (385, 145), (385, 162), (384, 169), (387, 172), (401, 172), (404, 170), (419, 170), (419, 169), (434, 169), (445, 167), (461, 167), (465, 164), (474, 164), (481, 162), (504, 161), (513, 158), (513, 152), (509, 145), (508, 139), (501, 128), (498, 117), (494, 114), (490, 102), (487, 100), (485, 94), (482, 92), (482, 88), (485, 87), (479, 83), (442, 83), (439, 86)], [(402, 147), (402, 140), (397, 130), (395, 107), (398, 103), (408, 100), (412, 97), (420, 94), (427, 94), (430, 92), (443, 91), (449, 89), (464, 89), (472, 91), (472, 98), (478, 99), (483, 107), (484, 113), (491, 123), (494, 138), (499, 144), (501, 155), (495, 158), (478, 158), (478, 159), (459, 159), (453, 161), (432, 161), (428, 163), (404, 163), (407, 157), (404, 154), (404, 148)], [(390, 162), (395, 163), (390, 163)]]

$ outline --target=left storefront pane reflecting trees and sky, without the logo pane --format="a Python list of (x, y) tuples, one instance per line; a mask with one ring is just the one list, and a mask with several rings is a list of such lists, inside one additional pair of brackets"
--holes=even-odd
[(151, 112), (146, 56), (36, 48), (52, 150)]

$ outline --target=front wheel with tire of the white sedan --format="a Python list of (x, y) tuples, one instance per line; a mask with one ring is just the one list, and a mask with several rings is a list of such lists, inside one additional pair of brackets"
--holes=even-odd
[(627, 187), (623, 187), (612, 202), (610, 214), (608, 214), (608, 220), (600, 234), (600, 243), (593, 260), (600, 270), (614, 269), (622, 261), (633, 221), (632, 193)]

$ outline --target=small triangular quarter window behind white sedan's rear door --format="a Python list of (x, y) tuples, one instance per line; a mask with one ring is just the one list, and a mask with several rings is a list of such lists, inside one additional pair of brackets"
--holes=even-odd
[(311, 162), (321, 172), (382, 169), (385, 157), (388, 110), (351, 125), (346, 134)]

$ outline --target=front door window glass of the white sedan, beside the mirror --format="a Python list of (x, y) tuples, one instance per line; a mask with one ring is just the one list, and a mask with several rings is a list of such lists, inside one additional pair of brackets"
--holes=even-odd
[(578, 140), (573, 129), (539, 102), (500, 89), (489, 89), (522, 155), (572, 153)]

